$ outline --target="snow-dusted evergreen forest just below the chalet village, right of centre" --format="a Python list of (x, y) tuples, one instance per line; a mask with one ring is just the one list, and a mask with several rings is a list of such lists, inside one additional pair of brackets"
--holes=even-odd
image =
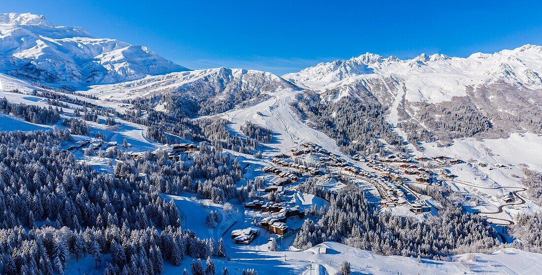
[(384, 255), (418, 256), (446, 260), (450, 254), (482, 252), (498, 244), (497, 234), (480, 215), (463, 213), (448, 201), (439, 217), (418, 221), (412, 217), (378, 213), (363, 189), (348, 186), (337, 193), (301, 185), (302, 192), (330, 201), (317, 223), (305, 220), (294, 245), (308, 248), (323, 241), (340, 243)]

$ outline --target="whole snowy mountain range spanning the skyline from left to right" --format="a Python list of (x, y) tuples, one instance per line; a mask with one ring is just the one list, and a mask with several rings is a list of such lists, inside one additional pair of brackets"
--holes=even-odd
[(42, 15), (0, 14), (0, 73), (113, 101), (170, 94), (201, 107), (212, 100), (223, 112), (262, 94), (305, 90), (328, 102), (371, 97), (388, 110), (392, 124), (424, 125), (420, 110), (467, 102), (499, 126), (519, 125), (512, 132), (537, 132), (538, 122), (533, 128), (521, 119), (535, 116), (538, 121), (541, 71), (542, 47), (530, 44), (468, 57), (421, 54), (401, 60), (366, 53), (283, 76), (242, 68), (190, 70), (144, 46), (95, 38), (81, 27), (57, 26)]

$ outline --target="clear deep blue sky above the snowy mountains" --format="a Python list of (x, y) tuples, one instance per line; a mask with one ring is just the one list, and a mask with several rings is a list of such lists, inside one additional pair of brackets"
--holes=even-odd
[(146, 45), (192, 69), (243, 67), (281, 75), (367, 51), (464, 57), (542, 44), (539, 1), (2, 2), (0, 12), (43, 14), (96, 37)]

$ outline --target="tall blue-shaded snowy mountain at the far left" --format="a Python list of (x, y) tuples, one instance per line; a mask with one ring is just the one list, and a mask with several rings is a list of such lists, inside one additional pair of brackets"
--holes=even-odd
[(0, 14), (2, 73), (80, 87), (186, 70), (149, 48), (95, 38), (81, 27), (57, 26), (42, 15)]

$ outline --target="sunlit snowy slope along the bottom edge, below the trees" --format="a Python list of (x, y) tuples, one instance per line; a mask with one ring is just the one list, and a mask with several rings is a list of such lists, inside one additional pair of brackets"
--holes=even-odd
[[(228, 240), (230, 241), (230, 240)], [(227, 241), (227, 242), (228, 242)], [(233, 243), (233, 241), (232, 241)], [(319, 248), (327, 248), (327, 254)], [(270, 252), (265, 248), (238, 246), (229, 248), (231, 260), (216, 259), (217, 270), (227, 266), (230, 274), (241, 274), (243, 269), (255, 269), (258, 274), (336, 274), (344, 261), (351, 264), (352, 274), (536, 274), (542, 267), (542, 254), (506, 248), (493, 254), (468, 253), (455, 261), (438, 261), (401, 256), (381, 256), (334, 242), (326, 242), (303, 251)], [(191, 259), (178, 267), (167, 265), (165, 275), (190, 270)]]

